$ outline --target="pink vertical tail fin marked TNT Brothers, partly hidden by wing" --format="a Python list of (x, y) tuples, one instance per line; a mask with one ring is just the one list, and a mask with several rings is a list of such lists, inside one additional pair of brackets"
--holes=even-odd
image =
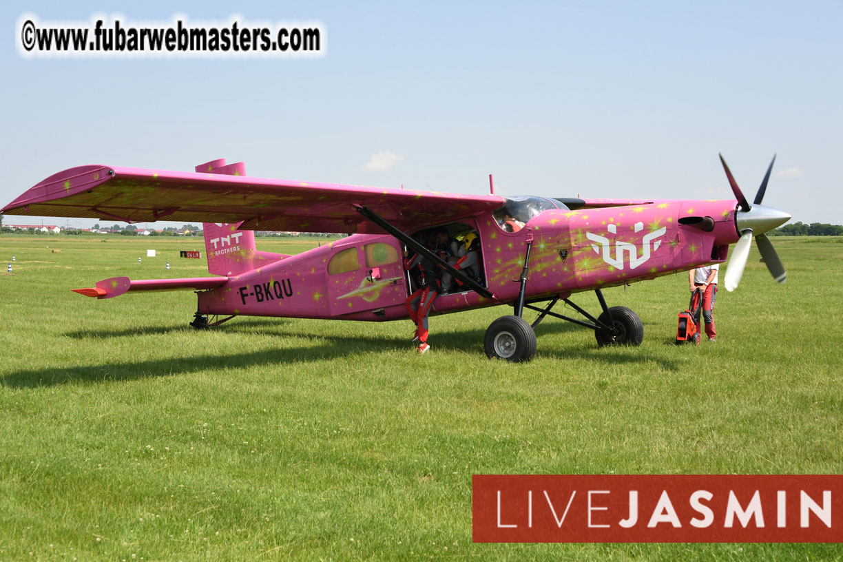
[[(196, 166), (196, 171), (207, 174), (245, 175), (246, 166), (242, 162), (227, 166), (225, 159), (219, 159)], [(255, 233), (251, 230), (239, 230), (241, 224), (242, 221), (202, 223), (208, 271), (213, 275), (236, 276), (289, 257), (285, 254), (260, 252), (255, 248)]]

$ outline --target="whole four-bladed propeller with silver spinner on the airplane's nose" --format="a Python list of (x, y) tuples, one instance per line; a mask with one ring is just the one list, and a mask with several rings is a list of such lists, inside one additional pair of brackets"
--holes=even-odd
[(744, 267), (746, 267), (746, 259), (749, 256), (749, 244), (751, 244), (753, 236), (773, 279), (779, 283), (784, 283), (787, 280), (784, 265), (781, 265), (776, 249), (773, 248), (770, 238), (767, 238), (765, 233), (789, 221), (791, 216), (784, 211), (760, 205), (767, 190), (767, 182), (770, 180), (770, 173), (773, 169), (773, 163), (776, 162), (776, 156), (773, 156), (770, 167), (767, 168), (767, 173), (760, 188), (758, 188), (758, 193), (755, 194), (752, 206), (749, 205), (749, 201), (746, 200), (738, 187), (738, 182), (735, 181), (732, 172), (729, 171), (722, 154), (720, 155), (720, 161), (723, 164), (723, 169), (726, 170), (726, 177), (729, 180), (729, 185), (732, 186), (735, 199), (738, 200), (738, 209), (735, 211), (735, 226), (741, 233), (726, 270), (726, 290), (731, 292), (738, 288), (740, 278), (744, 276)]

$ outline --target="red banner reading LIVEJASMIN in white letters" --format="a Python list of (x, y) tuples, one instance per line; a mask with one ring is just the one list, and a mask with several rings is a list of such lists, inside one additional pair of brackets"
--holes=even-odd
[(841, 543), (838, 474), (492, 475), (475, 543)]

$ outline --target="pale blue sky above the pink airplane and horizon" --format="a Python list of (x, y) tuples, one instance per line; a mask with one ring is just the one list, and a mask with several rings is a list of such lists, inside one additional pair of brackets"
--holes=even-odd
[[(14, 24), (26, 12), (319, 20), (327, 50), (24, 60)], [(12, 1), (0, 16), (3, 205), (72, 166), (213, 158), (260, 177), (461, 193), (487, 193), (491, 173), (509, 195), (728, 198), (718, 152), (752, 199), (778, 153), (765, 205), (843, 223), (839, 1)]]

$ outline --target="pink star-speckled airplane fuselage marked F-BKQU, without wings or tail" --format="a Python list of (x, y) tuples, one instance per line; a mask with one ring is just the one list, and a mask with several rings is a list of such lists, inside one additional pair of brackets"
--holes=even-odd
[[(434, 313), (511, 304), (531, 244), (526, 297), (654, 279), (726, 260), (738, 240), (736, 201), (653, 201), (640, 206), (551, 209), (507, 232), (491, 211), (462, 219), (481, 240), (483, 284), (476, 292), (439, 296)], [(420, 227), (432, 225), (420, 225)], [(410, 276), (403, 244), (386, 234), (355, 234), (232, 276), (199, 293), (199, 312), (384, 321), (407, 317)]]

